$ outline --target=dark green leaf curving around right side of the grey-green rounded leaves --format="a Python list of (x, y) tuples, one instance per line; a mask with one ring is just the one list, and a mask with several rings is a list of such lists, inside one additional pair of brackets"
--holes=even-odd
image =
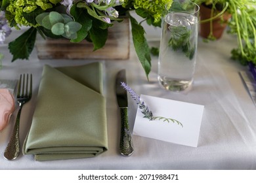
[(77, 38), (72, 39), (71, 42), (80, 42), (87, 37), (89, 30), (93, 25), (93, 20), (88, 17), (88, 13), (83, 8), (77, 8), (72, 6), (70, 13), (75, 19), (75, 22), (79, 22), (82, 27), (77, 31)]

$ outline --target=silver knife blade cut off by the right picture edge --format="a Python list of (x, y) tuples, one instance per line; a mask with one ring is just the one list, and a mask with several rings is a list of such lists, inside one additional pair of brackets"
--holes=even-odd
[(247, 71), (240, 71), (240, 76), (244, 80), (247, 91), (251, 95), (254, 105), (256, 105), (256, 82), (253, 79), (253, 76)]

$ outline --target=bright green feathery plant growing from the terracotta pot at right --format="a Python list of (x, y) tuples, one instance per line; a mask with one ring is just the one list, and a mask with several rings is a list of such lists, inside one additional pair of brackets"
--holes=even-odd
[[(212, 21), (223, 16), (226, 11), (232, 15), (228, 20), (228, 33), (237, 35), (238, 48), (231, 52), (232, 59), (243, 65), (256, 64), (256, 1), (255, 0), (193, 0), (198, 5), (208, 5), (212, 10)], [(218, 7), (223, 7), (218, 13)], [(209, 37), (213, 39), (213, 37)]]

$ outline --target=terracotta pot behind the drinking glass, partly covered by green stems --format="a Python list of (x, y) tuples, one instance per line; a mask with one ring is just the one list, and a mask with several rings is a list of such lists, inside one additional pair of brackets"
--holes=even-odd
[[(216, 12), (214, 15), (218, 14)], [(224, 22), (227, 22), (228, 19), (231, 18), (231, 14), (228, 14), (227, 12), (224, 12), (224, 14), (221, 15), (223, 17)], [(200, 20), (206, 20), (211, 18), (211, 8), (205, 7), (204, 5), (200, 5)], [(207, 21), (200, 24), (200, 35), (204, 38), (207, 38), (209, 36), (209, 33), (211, 31), (210, 24), (213, 25), (213, 36), (216, 39), (220, 39), (223, 35), (223, 31), (226, 28), (226, 24), (221, 20), (221, 17), (216, 18), (215, 20), (212, 20), (212, 22)]]

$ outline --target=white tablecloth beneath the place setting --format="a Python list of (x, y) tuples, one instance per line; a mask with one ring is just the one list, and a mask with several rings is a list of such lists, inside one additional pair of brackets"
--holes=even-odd
[[(148, 30), (150, 32), (150, 30)], [(150, 33), (155, 35), (150, 35)], [(11, 41), (18, 36), (14, 31)], [(150, 44), (159, 44), (159, 30), (152, 29), (147, 37)], [(157, 35), (157, 36), (156, 36)], [(33, 50), (30, 60), (11, 63), (7, 45), (0, 47), (5, 54), (0, 78), (17, 79), (21, 73), (33, 74), (33, 98), (24, 106), (20, 120), (20, 139), (24, 142), (31, 125), (37, 90), (43, 65), (53, 67), (83, 65), (95, 60), (39, 60)], [(87, 159), (35, 161), (33, 156), (20, 155), (13, 161), (3, 158), (14, 122), (0, 132), (0, 169), (256, 169), (256, 108), (238, 74), (247, 67), (230, 59), (230, 50), (236, 48), (236, 37), (223, 35), (215, 42), (198, 40), (198, 55), (194, 83), (189, 92), (163, 90), (157, 80), (158, 58), (152, 58), (149, 81), (131, 44), (128, 60), (100, 60), (104, 64), (104, 95), (108, 123), (108, 148), (100, 156)], [(120, 122), (114, 78), (120, 69), (127, 70), (127, 84), (139, 94), (204, 105), (198, 147), (133, 135), (135, 152), (130, 157), (119, 154)], [(135, 122), (137, 105), (129, 97), (129, 123)], [(186, 112), (184, 112), (186, 115)]]

